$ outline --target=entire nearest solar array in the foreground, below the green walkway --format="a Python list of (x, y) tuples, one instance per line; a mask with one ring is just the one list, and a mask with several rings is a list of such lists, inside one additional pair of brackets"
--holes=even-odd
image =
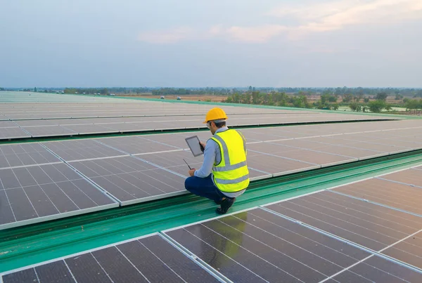
[[(418, 209), (422, 194), (414, 194), (413, 183), (399, 181), (415, 171), (422, 167), (12, 270), (2, 278), (4, 283), (421, 282), (422, 214), (411, 208)], [(388, 192), (376, 197), (376, 184)], [(374, 193), (375, 200), (363, 199), (362, 192)], [(359, 196), (347, 195), (353, 193)], [(403, 200), (407, 210), (392, 206), (397, 195), (413, 196), (412, 204)]]

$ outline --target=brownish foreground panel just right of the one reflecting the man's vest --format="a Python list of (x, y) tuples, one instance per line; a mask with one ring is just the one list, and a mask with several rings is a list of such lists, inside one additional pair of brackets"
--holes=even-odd
[(390, 218), (391, 214), (404, 219), (414, 218), (409, 217), (407, 213), (391, 211), (382, 206), (380, 208), (376, 204), (352, 202), (350, 197), (332, 192), (320, 192), (281, 202), (268, 206), (268, 209), (374, 251), (380, 251), (422, 228), (422, 218), (413, 226), (406, 228), (395, 221), (390, 221)]

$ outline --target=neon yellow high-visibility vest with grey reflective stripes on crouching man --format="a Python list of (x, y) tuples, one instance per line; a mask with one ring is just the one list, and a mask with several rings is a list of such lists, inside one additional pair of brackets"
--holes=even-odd
[(214, 164), (214, 183), (222, 192), (239, 192), (249, 185), (245, 138), (235, 130), (216, 133), (212, 138), (221, 152), (221, 162)]

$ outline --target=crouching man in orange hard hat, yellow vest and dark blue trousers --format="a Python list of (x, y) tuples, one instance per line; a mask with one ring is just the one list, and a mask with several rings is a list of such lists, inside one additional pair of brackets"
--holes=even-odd
[(220, 204), (217, 213), (224, 214), (234, 204), (236, 197), (249, 185), (246, 165), (246, 142), (241, 133), (226, 126), (227, 115), (221, 108), (207, 113), (204, 124), (212, 138), (204, 147), (204, 162), (200, 169), (189, 170), (185, 180), (186, 190)]

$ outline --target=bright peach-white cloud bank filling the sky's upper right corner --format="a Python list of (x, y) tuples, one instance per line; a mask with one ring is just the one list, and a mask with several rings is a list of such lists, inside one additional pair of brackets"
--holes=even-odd
[(296, 25), (229, 27), (231, 39), (262, 43), (281, 34), (301, 39), (307, 34), (330, 32), (351, 25), (388, 25), (422, 18), (421, 0), (342, 0), (307, 6), (283, 6), (265, 14), (277, 18), (295, 18)]

